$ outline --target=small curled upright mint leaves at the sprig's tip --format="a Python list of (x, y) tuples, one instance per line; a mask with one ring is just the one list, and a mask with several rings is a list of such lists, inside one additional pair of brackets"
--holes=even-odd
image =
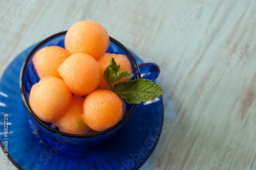
[(134, 75), (129, 71), (121, 71), (120, 65), (117, 65), (114, 58), (111, 56), (110, 64), (104, 70), (103, 77), (108, 85), (112, 88), (115, 83), (123, 78), (132, 78)]

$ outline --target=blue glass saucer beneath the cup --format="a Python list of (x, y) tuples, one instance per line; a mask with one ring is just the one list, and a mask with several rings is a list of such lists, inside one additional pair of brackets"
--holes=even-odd
[[(79, 152), (69, 146), (69, 152), (65, 149), (66, 153), (63, 153), (61, 147), (65, 142), (51, 144), (54, 142), (51, 139), (46, 141), (29, 119), (20, 97), (20, 69), (35, 46), (18, 55), (0, 79), (0, 139), (2, 149), (8, 153), (8, 161), (18, 169), (29, 170), (138, 169), (150, 157), (160, 137), (162, 98), (137, 105), (124, 127), (110, 140), (101, 143), (97, 150)], [(138, 64), (143, 63), (133, 55)]]

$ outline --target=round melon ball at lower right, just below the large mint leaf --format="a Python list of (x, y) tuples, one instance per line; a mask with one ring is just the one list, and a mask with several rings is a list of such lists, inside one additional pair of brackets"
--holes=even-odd
[(83, 102), (83, 122), (95, 131), (115, 126), (122, 118), (122, 101), (110, 90), (96, 90)]

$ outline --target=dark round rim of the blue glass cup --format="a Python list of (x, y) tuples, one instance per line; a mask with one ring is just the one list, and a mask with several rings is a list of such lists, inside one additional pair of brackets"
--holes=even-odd
[[(25, 93), (25, 86), (24, 86), (24, 77), (25, 77), (25, 70), (27, 67), (27, 64), (30, 60), (31, 57), (33, 57), (33, 54), (37, 51), (37, 49), (43, 45), (44, 43), (46, 43), (47, 41), (66, 34), (67, 31), (63, 31), (57, 34), (54, 34), (48, 38), (46, 38), (45, 40), (42, 40), (40, 43), (38, 43), (33, 50), (29, 53), (29, 55), (27, 56), (27, 58), (25, 59), (22, 69), (20, 70), (20, 76), (19, 76), (19, 88), (20, 88), (20, 94), (22, 96), (22, 101), (27, 109), (27, 111), (29, 112), (29, 114), (31, 115), (31, 117), (33, 119), (36, 120), (36, 122), (43, 128), (49, 130), (50, 132), (53, 132), (55, 134), (58, 134), (60, 136), (64, 136), (64, 137), (69, 137), (69, 138), (81, 138), (81, 139), (86, 139), (86, 138), (94, 138), (94, 137), (98, 137), (98, 136), (102, 136), (105, 134), (108, 134), (110, 132), (112, 132), (113, 130), (117, 129), (119, 126), (121, 126), (133, 113), (136, 104), (132, 104), (131, 109), (126, 113), (126, 115), (112, 128), (106, 129), (102, 132), (97, 132), (97, 133), (93, 133), (93, 134), (86, 134), (86, 135), (75, 135), (75, 134), (70, 134), (70, 133), (66, 133), (66, 132), (61, 132), (57, 129), (54, 129), (52, 127), (50, 127), (49, 125), (47, 125), (43, 120), (41, 120), (39, 117), (37, 117), (37, 115), (33, 112), (33, 110), (31, 109), (30, 105), (29, 105), (29, 101), (27, 99), (26, 93)], [(138, 79), (141, 79), (140, 76), (140, 69), (139, 66), (135, 60), (135, 58), (133, 57), (133, 55), (130, 53), (129, 50), (127, 50), (127, 48), (125, 46), (123, 46), (120, 42), (118, 42), (117, 40), (115, 40), (114, 38), (110, 37), (110, 41), (113, 41), (114, 43), (116, 43), (118, 46), (120, 46), (122, 48), (122, 50), (130, 57), (130, 59), (132, 60), (133, 64), (134, 64), (134, 69), (136, 70), (135, 72), (135, 76), (137, 76)]]

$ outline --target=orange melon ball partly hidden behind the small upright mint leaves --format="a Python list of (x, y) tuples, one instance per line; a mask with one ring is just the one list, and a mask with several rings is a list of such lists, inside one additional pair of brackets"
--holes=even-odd
[[(101, 80), (100, 80), (99, 86), (103, 89), (110, 89), (110, 86), (108, 84), (106, 84), (103, 74), (104, 74), (104, 70), (106, 69), (106, 66), (108, 66), (110, 64), (111, 56), (115, 59), (116, 64), (120, 65), (120, 68), (121, 68), (120, 71), (129, 71), (129, 72), (133, 71), (132, 65), (131, 65), (129, 59), (125, 55), (105, 53), (103, 56), (101, 56), (97, 60), (98, 63), (100, 64), (100, 69), (101, 69)], [(123, 78), (118, 82), (124, 82), (124, 81), (128, 81), (128, 80), (130, 80), (130, 78)]]

